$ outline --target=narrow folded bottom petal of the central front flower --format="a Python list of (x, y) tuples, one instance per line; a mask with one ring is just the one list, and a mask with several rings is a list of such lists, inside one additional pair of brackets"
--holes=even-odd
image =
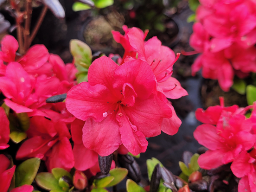
[(122, 144), (133, 155), (138, 155), (146, 151), (148, 141), (143, 133), (137, 131), (137, 127), (132, 125), (125, 112), (119, 108), (116, 114), (116, 120), (119, 122), (119, 132), (121, 134)]

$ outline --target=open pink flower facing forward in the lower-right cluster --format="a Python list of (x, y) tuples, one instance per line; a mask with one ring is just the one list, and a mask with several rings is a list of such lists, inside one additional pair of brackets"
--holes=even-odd
[(198, 164), (203, 169), (213, 169), (233, 161), (242, 151), (249, 150), (256, 141), (250, 134), (255, 126), (250, 119), (241, 114), (233, 115), (222, 111), (216, 127), (209, 124), (199, 125), (194, 137), (209, 150), (200, 155)]

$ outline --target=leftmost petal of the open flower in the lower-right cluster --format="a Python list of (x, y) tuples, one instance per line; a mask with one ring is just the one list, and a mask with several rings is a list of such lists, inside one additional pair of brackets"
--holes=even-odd
[(216, 127), (209, 124), (199, 125), (194, 131), (195, 140), (210, 150), (216, 150), (223, 147), (219, 141), (220, 136), (216, 133)]

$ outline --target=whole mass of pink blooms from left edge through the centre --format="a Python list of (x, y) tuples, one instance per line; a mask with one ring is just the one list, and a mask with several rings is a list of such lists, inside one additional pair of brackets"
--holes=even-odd
[[(56, 167), (67, 171), (75, 167), (96, 175), (100, 172), (98, 155), (108, 156), (116, 150), (137, 155), (145, 152), (146, 137), (161, 131), (177, 133), (181, 121), (166, 97), (187, 95), (171, 77), (178, 57), (156, 37), (144, 42), (146, 33), (140, 29), (124, 29), (125, 36), (113, 32), (125, 48), (123, 59), (119, 57), (119, 64), (106, 56), (96, 59), (88, 70), (88, 82), (80, 84), (75, 65), (64, 64), (44, 45), (35, 45), (20, 56), (15, 38), (3, 38), (0, 90), (6, 97), (4, 102), (14, 115), (27, 113), (30, 117), (28, 139), (17, 151), (17, 160), (38, 157), (46, 162), (49, 172)], [(65, 102), (46, 102), (64, 93)], [(3, 108), (0, 123), (0, 149), (6, 149), (10, 129)]]

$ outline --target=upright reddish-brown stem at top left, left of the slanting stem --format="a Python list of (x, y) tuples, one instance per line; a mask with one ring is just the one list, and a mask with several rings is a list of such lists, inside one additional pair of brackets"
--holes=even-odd
[(32, 15), (32, 0), (26, 0), (26, 20), (25, 20), (25, 30), (24, 30), (24, 49), (25, 52), (29, 49), (30, 42), (30, 24)]

